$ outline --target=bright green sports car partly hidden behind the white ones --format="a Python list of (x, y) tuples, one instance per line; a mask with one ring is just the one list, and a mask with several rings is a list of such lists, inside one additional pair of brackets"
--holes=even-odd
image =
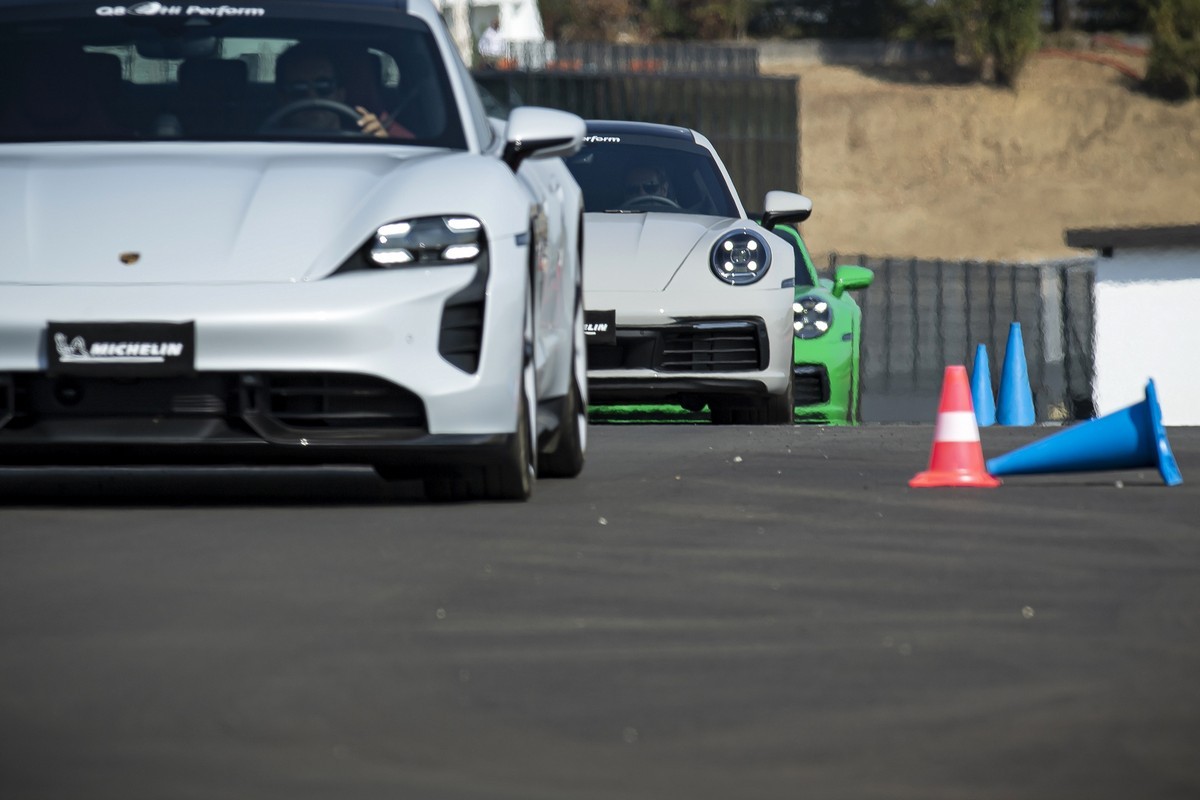
[(799, 231), (778, 225), (775, 233), (797, 252), (793, 324), (793, 373), (797, 422), (856, 425), (860, 421), (863, 311), (854, 290), (871, 285), (865, 266), (842, 264), (833, 279), (817, 275)]

